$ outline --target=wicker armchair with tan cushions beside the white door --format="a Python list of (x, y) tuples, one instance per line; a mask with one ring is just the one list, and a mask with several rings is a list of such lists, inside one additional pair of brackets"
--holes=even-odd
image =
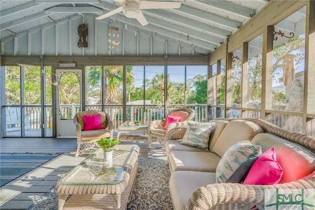
[[(84, 130), (84, 115), (96, 115), (101, 114), (101, 125), (100, 130)], [(95, 142), (103, 137), (110, 137), (113, 139), (113, 121), (109, 118), (107, 113), (102, 111), (82, 111), (74, 115), (73, 124), (76, 128), (77, 134), (77, 151), (75, 157), (79, 156), (82, 150), (91, 149), (95, 146)]]

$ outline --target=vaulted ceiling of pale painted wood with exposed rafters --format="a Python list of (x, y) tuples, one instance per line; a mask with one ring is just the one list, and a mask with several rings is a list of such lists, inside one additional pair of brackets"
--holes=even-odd
[[(95, 21), (126, 25), (130, 30), (211, 54), (267, 3), (268, 0), (181, 0), (178, 9), (142, 9), (149, 22), (146, 26), (126, 18), (123, 12)], [(121, 5), (114, 0), (1, 0), (0, 39), (77, 16), (95, 19)]]

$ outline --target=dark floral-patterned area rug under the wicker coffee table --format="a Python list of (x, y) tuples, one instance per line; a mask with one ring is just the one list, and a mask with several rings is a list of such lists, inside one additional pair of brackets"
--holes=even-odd
[[(170, 171), (166, 160), (139, 157), (139, 173), (128, 210), (173, 210), (168, 181)], [(37, 200), (28, 210), (57, 210), (58, 194), (54, 188)]]

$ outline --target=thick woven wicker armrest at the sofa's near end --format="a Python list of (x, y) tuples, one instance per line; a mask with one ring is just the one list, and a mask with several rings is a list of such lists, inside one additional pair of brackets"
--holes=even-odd
[[(275, 193), (284, 189), (285, 193), (296, 193), (297, 189), (314, 189), (315, 172), (297, 181), (284, 184), (250, 185), (239, 183), (209, 184), (193, 192), (186, 210), (244, 209), (244, 206), (264, 205), (265, 190)], [(268, 191), (267, 191), (268, 192)]]

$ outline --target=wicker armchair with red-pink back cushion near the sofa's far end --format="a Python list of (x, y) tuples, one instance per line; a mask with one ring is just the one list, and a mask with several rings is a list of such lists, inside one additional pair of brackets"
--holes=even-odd
[(180, 120), (180, 122), (170, 123), (167, 126), (166, 130), (163, 129), (166, 123), (166, 119), (152, 121), (149, 125), (148, 146), (151, 146), (151, 143), (157, 140), (164, 146), (166, 140), (183, 139), (187, 130), (187, 121), (191, 120), (194, 117), (195, 110), (188, 107), (174, 108), (168, 113), (168, 115), (181, 115), (182, 119)]

